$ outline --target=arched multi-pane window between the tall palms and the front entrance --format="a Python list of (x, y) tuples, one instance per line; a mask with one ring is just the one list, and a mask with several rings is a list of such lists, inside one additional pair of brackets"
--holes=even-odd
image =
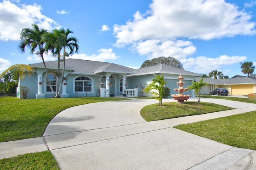
[(75, 91), (91, 92), (92, 80), (88, 77), (77, 77), (75, 79)]

